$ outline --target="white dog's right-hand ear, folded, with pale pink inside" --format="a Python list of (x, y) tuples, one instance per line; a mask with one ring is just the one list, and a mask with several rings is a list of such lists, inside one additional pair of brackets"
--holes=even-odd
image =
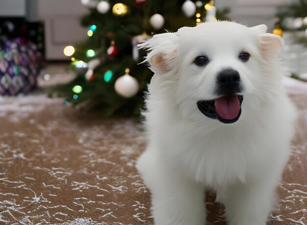
[(266, 33), (268, 27), (264, 24), (250, 28), (256, 32), (259, 38), (259, 49), (262, 57), (266, 60), (277, 58), (283, 46), (283, 39), (275, 34)]

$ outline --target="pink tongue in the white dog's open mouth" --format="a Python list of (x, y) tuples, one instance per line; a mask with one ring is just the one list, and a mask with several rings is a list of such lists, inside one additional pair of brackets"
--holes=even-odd
[(220, 117), (234, 119), (240, 112), (240, 102), (237, 95), (224, 96), (215, 100), (215, 109)]

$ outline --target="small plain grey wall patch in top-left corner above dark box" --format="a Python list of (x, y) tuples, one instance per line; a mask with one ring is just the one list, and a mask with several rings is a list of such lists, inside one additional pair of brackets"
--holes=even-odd
[(25, 16), (26, 0), (0, 0), (0, 16)]

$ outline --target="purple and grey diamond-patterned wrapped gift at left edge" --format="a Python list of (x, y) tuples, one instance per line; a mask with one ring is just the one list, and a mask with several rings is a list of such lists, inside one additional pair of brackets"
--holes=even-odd
[(25, 38), (0, 38), (0, 95), (27, 93), (36, 86), (42, 55)]

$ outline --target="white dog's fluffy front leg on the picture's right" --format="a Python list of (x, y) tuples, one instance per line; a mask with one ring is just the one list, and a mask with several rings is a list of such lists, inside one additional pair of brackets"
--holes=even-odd
[(233, 185), (224, 199), (230, 225), (266, 225), (275, 204), (276, 174), (247, 184)]

